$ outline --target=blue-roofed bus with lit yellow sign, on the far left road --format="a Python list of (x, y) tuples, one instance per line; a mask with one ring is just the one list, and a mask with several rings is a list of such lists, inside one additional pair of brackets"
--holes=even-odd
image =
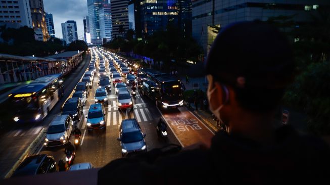
[(41, 121), (64, 94), (62, 74), (47, 75), (33, 80), (8, 95), (14, 108), (14, 121)]

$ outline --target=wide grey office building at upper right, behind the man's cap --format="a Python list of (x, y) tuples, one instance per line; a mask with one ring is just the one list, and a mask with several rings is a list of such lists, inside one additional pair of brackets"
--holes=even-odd
[(293, 16), (299, 23), (311, 21), (310, 14), (317, 13), (327, 0), (196, 0), (192, 2), (193, 37), (204, 50), (204, 58), (217, 35), (217, 29), (237, 21), (266, 21), (269, 17)]

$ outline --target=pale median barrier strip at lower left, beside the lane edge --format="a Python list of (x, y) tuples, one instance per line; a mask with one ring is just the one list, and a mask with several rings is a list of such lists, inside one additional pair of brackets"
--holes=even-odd
[(25, 152), (21, 155), (21, 157), (17, 160), (17, 162), (13, 165), (13, 167), (8, 171), (5, 175), (5, 178), (9, 178), (13, 175), (14, 171), (18, 168), (18, 166), (30, 155), (36, 154), (40, 147), (43, 145), (43, 140), (46, 136), (46, 131), (42, 128), (37, 135), (37, 137), (33, 140), (33, 142), (28, 146)]

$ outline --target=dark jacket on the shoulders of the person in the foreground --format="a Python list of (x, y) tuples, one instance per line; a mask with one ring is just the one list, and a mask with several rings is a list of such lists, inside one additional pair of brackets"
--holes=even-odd
[[(330, 149), (319, 138), (289, 126), (277, 130), (276, 144), (261, 146), (218, 132), (210, 149), (114, 160), (99, 170), (98, 184), (327, 184)], [(154, 154), (153, 154), (154, 153)], [(322, 182), (322, 183), (321, 183)]]

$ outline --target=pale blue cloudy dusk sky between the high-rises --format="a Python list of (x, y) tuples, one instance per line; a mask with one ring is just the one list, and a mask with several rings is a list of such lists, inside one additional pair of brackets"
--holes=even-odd
[(87, 0), (43, 0), (45, 12), (53, 14), (55, 36), (63, 38), (61, 23), (67, 20), (77, 22), (78, 39), (82, 39), (83, 17), (87, 15)]

